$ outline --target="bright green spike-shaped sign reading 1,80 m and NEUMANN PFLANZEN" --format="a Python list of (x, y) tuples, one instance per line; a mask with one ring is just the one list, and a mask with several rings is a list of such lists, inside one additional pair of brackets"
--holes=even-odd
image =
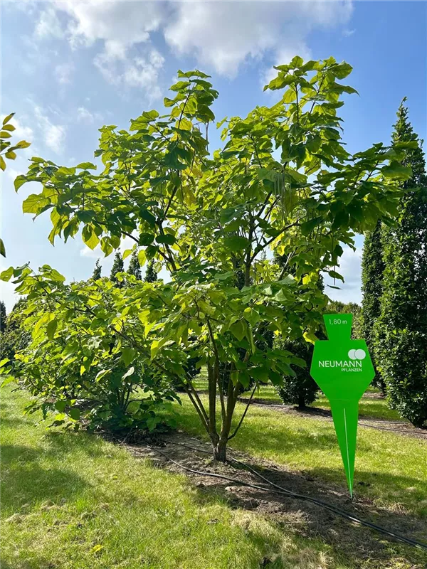
[(310, 375), (330, 400), (350, 496), (353, 496), (359, 400), (375, 371), (364, 340), (352, 340), (352, 314), (324, 314), (328, 340), (317, 340)]

